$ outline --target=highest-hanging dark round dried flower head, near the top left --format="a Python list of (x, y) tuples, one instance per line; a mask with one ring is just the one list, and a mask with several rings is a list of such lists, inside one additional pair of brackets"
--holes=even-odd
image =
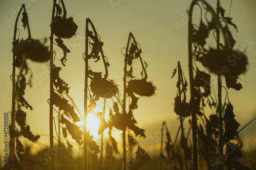
[(53, 34), (60, 38), (73, 37), (78, 28), (72, 17), (63, 18), (58, 15), (53, 18), (50, 27)]

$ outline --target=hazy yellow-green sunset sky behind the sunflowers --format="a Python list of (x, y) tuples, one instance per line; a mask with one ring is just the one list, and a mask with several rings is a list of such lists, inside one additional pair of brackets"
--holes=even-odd
[[(69, 83), (70, 96), (83, 111), (84, 88), (84, 35), (85, 21), (90, 18), (104, 42), (104, 55), (110, 62), (109, 78), (120, 85), (122, 94), (124, 56), (121, 49), (126, 46), (129, 32), (132, 32), (142, 48), (142, 57), (147, 62), (148, 81), (156, 85), (156, 95), (151, 98), (140, 98), (138, 109), (134, 116), (140, 128), (145, 129), (147, 139), (139, 139), (146, 149), (154, 145), (159, 146), (158, 137), (163, 121), (168, 122), (170, 131), (175, 137), (179, 127), (174, 113), (174, 98), (176, 96), (176, 81), (171, 79), (172, 71), (181, 62), (184, 75), (188, 80), (188, 25), (187, 13), (191, 1), (148, 1), (148, 0), (105, 0), (105, 1), (65, 1), (67, 16), (73, 16), (78, 25), (77, 35), (64, 40), (70, 48), (66, 67), (61, 69), (60, 77)], [(207, 1), (216, 9), (216, 1)], [(25, 0), (0, 2), (0, 46), (1, 46), (1, 96), (0, 99), (0, 128), (3, 128), (3, 114), (11, 111), (12, 82), (12, 41), (16, 13), (25, 3), (29, 16), (31, 35), (33, 38), (45, 40), (49, 45), (52, 1)], [(222, 7), (229, 12), (231, 1), (221, 1)], [(236, 23), (238, 32), (230, 28), (237, 43), (234, 49), (246, 50), (249, 65), (244, 75), (240, 76), (243, 89), (241, 91), (228, 90), (228, 97), (234, 106), (234, 114), (240, 123), (240, 128), (256, 116), (256, 3), (253, 0), (237, 0), (232, 2), (230, 17)], [(199, 14), (198, 14), (199, 15)], [(21, 18), (18, 28), (20, 38), (27, 38)], [(56, 51), (56, 65), (61, 57), (61, 50)], [(49, 145), (49, 63), (28, 62), (33, 71), (32, 88), (26, 89), (25, 98), (33, 106), (33, 111), (27, 113), (27, 123), (31, 131), (41, 135), (39, 141)], [(60, 66), (60, 65), (59, 65)], [(140, 65), (136, 65), (138, 69)], [(206, 70), (206, 69), (205, 69)], [(216, 80), (215, 75), (211, 75)], [(189, 82), (188, 82), (189, 83)], [(217, 91), (216, 81), (213, 83)], [(224, 90), (223, 90), (224, 91)], [(225, 92), (223, 92), (225, 96)], [(122, 99), (122, 96), (121, 96)], [(102, 103), (102, 102), (101, 102)], [(108, 101), (111, 106), (111, 101)], [(206, 113), (209, 115), (209, 113)], [(56, 116), (56, 115), (55, 115)], [(186, 124), (188, 124), (186, 122)], [(256, 143), (256, 134), (251, 131), (256, 127), (253, 122), (241, 132), (244, 136), (244, 147), (249, 149)], [(1, 134), (2, 136), (2, 134)], [(120, 137), (120, 136), (119, 136)], [(154, 139), (156, 138), (156, 140)], [(247, 142), (246, 142), (247, 141)], [(250, 141), (250, 142), (249, 142)], [(251, 142), (253, 141), (253, 142)], [(2, 142), (1, 142), (2, 143)], [(29, 142), (28, 142), (29, 143)], [(151, 143), (151, 144), (149, 144)], [(153, 143), (153, 144), (152, 144)], [(1, 147), (2, 145), (0, 145)], [(2, 149), (0, 154), (2, 153)]]

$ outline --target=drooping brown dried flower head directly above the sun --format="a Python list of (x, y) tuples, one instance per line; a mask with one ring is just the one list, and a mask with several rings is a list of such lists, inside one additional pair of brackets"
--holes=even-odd
[(106, 80), (101, 77), (94, 77), (90, 84), (91, 91), (93, 94), (100, 98), (110, 99), (114, 95), (119, 95), (118, 85), (114, 80)]

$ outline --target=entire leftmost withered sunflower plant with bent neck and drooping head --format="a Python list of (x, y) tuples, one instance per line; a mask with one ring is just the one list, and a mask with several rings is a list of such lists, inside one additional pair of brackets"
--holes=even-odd
[[(20, 13), (22, 13), (22, 22), (24, 29), (28, 30), (28, 38), (24, 40), (23, 38), (17, 38), (17, 23)], [(24, 147), (22, 142), (19, 140), (21, 136), (28, 138), (32, 142), (36, 142), (39, 139), (39, 135), (34, 135), (30, 131), (30, 126), (27, 125), (27, 113), (23, 111), (23, 108), (33, 110), (32, 106), (24, 98), (26, 86), (31, 84), (32, 71), (27, 64), (27, 60), (37, 62), (45, 62), (49, 60), (50, 52), (48, 47), (44, 46), (44, 43), (41, 43), (37, 39), (32, 39), (30, 28), (29, 28), (29, 19), (26, 12), (25, 4), (20, 8), (14, 28), (14, 37), (13, 37), (13, 69), (12, 69), (12, 124), (11, 124), (11, 148), (10, 148), (10, 169), (16, 168), (18, 165), (18, 160), (15, 156), (15, 151), (20, 162), (24, 162)], [(16, 69), (18, 70), (18, 76), (16, 78)], [(29, 79), (27, 80), (29, 76)], [(20, 131), (15, 128), (15, 120), (20, 127)], [(15, 147), (16, 141), (16, 147)]]

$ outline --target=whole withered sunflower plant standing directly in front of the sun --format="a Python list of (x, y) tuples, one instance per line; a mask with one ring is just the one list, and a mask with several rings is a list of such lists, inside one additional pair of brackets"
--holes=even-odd
[[(92, 27), (93, 31), (89, 30), (89, 25)], [(103, 131), (109, 127), (108, 123), (105, 122), (102, 118), (101, 112), (95, 112), (94, 108), (96, 107), (96, 101), (99, 98), (110, 99), (114, 95), (119, 95), (119, 89), (114, 80), (108, 78), (108, 67), (110, 66), (108, 58), (104, 56), (102, 50), (103, 42), (101, 42), (96, 29), (90, 20), (86, 19), (86, 51), (83, 55), (85, 62), (85, 82), (84, 82), (84, 127), (83, 127), (83, 169), (88, 169), (88, 150), (89, 146), (91, 150), (91, 167), (96, 169), (102, 169), (98, 162), (97, 153), (99, 153), (99, 146), (92, 140), (93, 136), (87, 132), (86, 120), (87, 114), (94, 114), (99, 119), (99, 129), (98, 134), (100, 135)], [(89, 52), (89, 47), (91, 48)], [(102, 78), (102, 72), (94, 72), (91, 67), (89, 67), (89, 60), (94, 59), (94, 62), (97, 62), (102, 58), (105, 74)], [(88, 79), (91, 79), (90, 89), (88, 85)], [(88, 99), (90, 104), (88, 105)], [(93, 143), (93, 146), (92, 146)], [(92, 147), (91, 147), (92, 146)]]

